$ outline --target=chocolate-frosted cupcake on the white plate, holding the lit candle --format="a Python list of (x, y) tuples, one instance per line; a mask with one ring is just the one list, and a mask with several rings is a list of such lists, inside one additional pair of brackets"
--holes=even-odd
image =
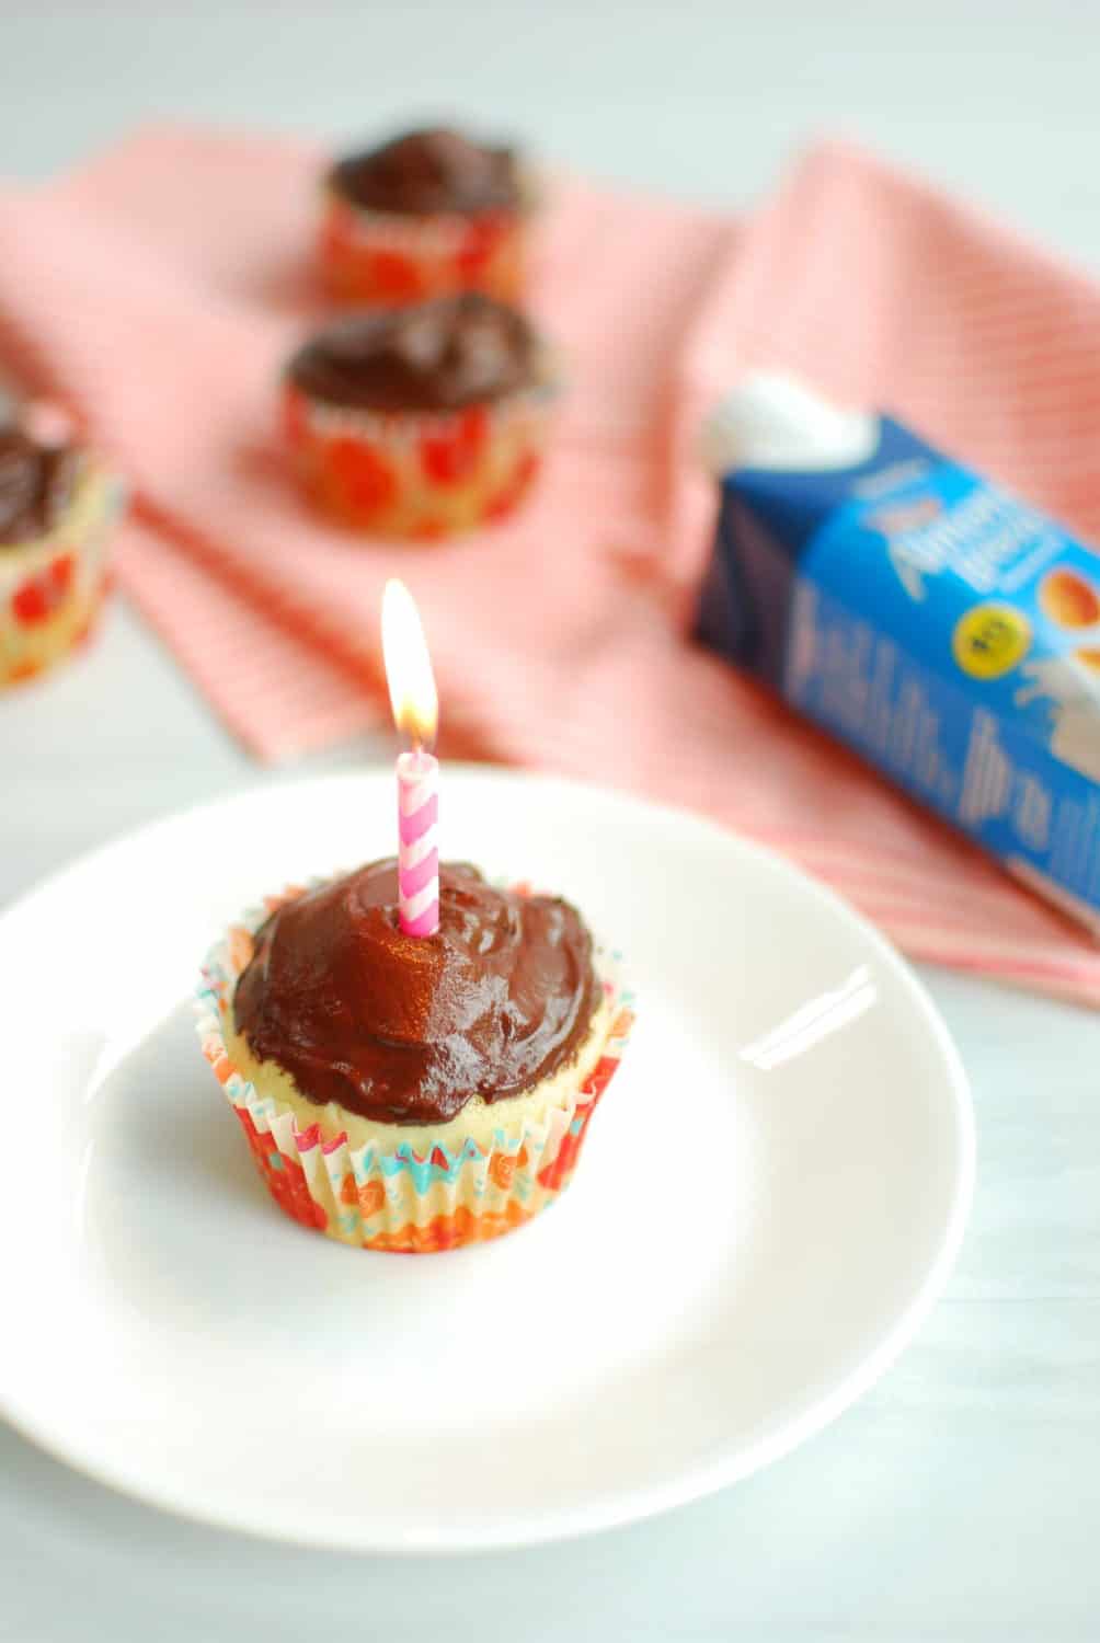
[(567, 902), (441, 868), (434, 937), (393, 859), (294, 887), (215, 946), (199, 1035), (271, 1196), (344, 1244), (510, 1232), (567, 1186), (631, 1014)]

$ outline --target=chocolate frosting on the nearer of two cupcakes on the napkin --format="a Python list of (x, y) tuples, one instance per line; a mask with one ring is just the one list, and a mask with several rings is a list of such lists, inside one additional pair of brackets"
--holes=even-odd
[(337, 320), (293, 357), (312, 399), (365, 411), (455, 411), (538, 376), (523, 314), (477, 291)]

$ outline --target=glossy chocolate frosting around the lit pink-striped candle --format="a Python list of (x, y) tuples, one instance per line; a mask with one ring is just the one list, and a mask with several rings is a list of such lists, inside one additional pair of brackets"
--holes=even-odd
[(446, 1124), (571, 1061), (600, 1002), (592, 937), (569, 902), (439, 871), (439, 933), (398, 927), (393, 858), (280, 907), (237, 983), (237, 1030), (319, 1104)]

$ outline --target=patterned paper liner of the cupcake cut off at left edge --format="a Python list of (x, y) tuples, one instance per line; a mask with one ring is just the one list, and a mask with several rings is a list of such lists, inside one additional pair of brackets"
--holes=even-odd
[(0, 688), (46, 672), (90, 636), (122, 506), (118, 480), (89, 462), (53, 531), (0, 547)]

